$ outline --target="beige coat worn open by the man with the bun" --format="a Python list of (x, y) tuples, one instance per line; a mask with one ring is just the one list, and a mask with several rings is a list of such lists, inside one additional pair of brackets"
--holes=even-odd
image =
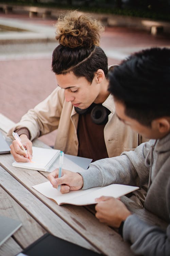
[[(109, 157), (118, 156), (123, 151), (136, 148), (141, 142), (141, 136), (125, 126), (117, 118), (112, 95), (103, 102), (103, 106), (111, 111), (108, 122), (104, 127), (104, 139)], [(78, 127), (79, 114), (75, 112), (71, 102), (65, 101), (64, 90), (57, 87), (51, 95), (40, 102), (34, 109), (30, 109), (19, 123), (9, 132), (27, 127), (31, 140), (57, 129), (54, 148), (66, 154), (78, 154)], [(97, 145), (96, 145), (97, 146)]]

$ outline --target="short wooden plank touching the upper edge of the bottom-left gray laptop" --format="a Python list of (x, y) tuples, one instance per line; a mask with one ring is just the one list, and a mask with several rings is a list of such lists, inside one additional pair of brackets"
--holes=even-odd
[(0, 187), (0, 215), (22, 223), (21, 228), (13, 234), (22, 248), (26, 248), (47, 232), (2, 187)]

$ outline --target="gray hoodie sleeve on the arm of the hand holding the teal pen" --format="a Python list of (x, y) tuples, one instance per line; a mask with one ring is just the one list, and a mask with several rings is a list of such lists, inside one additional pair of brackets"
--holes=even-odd
[(140, 144), (135, 151), (123, 152), (121, 156), (104, 158), (90, 164), (83, 177), (83, 189), (107, 186), (118, 183), (142, 186), (148, 182), (149, 167), (145, 166), (145, 157), (154, 141)]

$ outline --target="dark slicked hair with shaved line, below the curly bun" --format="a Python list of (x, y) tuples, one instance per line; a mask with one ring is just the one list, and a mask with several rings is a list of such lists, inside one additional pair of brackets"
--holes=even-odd
[(92, 83), (98, 69), (108, 73), (107, 57), (99, 46), (69, 48), (58, 45), (52, 55), (52, 71), (55, 74), (73, 72), (77, 77), (84, 76)]

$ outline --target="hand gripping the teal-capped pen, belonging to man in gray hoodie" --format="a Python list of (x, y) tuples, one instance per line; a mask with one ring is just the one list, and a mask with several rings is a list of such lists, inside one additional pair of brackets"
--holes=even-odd
[(77, 172), (67, 171), (62, 169), (62, 177), (58, 178), (58, 169), (48, 175), (48, 180), (54, 188), (61, 185), (60, 192), (65, 194), (71, 190), (79, 190), (83, 187), (83, 178)]

